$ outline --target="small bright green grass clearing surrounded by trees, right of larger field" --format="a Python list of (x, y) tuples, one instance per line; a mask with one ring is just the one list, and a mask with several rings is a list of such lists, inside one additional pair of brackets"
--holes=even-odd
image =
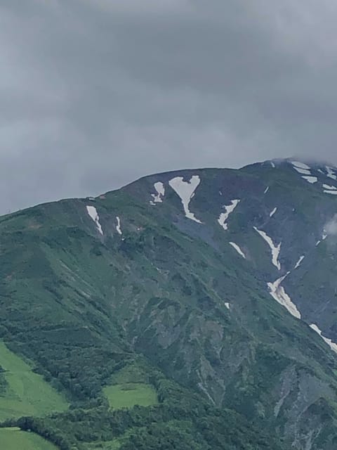
[(145, 383), (124, 383), (104, 388), (111, 409), (151, 406), (158, 403), (157, 392)]

